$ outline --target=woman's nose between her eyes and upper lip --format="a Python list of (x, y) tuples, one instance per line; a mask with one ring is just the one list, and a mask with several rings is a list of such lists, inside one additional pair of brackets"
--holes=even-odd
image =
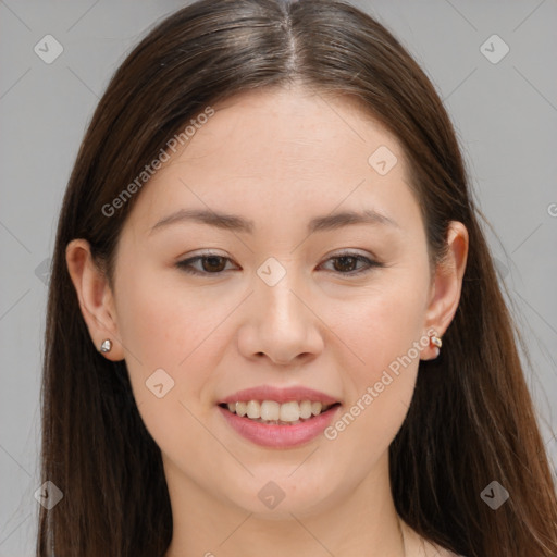
[(249, 314), (238, 336), (248, 359), (269, 358), (273, 363), (298, 364), (323, 350), (320, 320), (312, 311), (307, 288), (292, 280), (294, 272), (274, 286), (256, 277)]

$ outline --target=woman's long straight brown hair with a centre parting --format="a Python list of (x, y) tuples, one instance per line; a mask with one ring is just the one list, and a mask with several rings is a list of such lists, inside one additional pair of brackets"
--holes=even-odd
[[(102, 208), (206, 107), (296, 79), (349, 94), (399, 140), (430, 253), (449, 221), (468, 228), (461, 300), (440, 359), (420, 362), (392, 443), (396, 509), (422, 536), (467, 557), (557, 555), (557, 500), (506, 308), (450, 120), (405, 48), (335, 0), (201, 0), (157, 25), (110, 82), (65, 193), (48, 300), (42, 481), (64, 497), (40, 509), (37, 555), (162, 556), (172, 516), (160, 449), (137, 411), (124, 362), (99, 355), (65, 263), (74, 238), (112, 277), (119, 235), (140, 191)], [(148, 187), (148, 185), (146, 185)], [(497, 510), (481, 492), (510, 494)]]

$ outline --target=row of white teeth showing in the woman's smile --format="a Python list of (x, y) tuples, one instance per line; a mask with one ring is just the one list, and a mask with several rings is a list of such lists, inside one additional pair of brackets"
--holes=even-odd
[(280, 404), (275, 400), (248, 400), (239, 403), (228, 403), (228, 410), (240, 417), (247, 416), (249, 419), (263, 423), (289, 424), (299, 423), (300, 420), (309, 420), (312, 416), (319, 416), (332, 405), (323, 405), (311, 400), (292, 400)]

